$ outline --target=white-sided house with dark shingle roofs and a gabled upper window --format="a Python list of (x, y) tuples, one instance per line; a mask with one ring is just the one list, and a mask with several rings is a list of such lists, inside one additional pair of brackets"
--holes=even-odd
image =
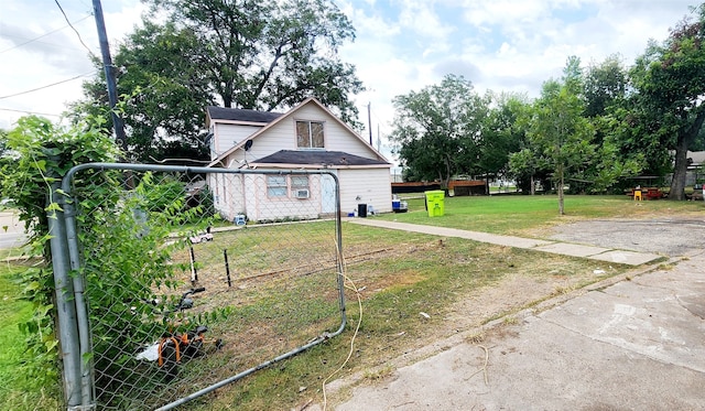
[(207, 107), (206, 126), (209, 167), (288, 172), (209, 174), (215, 207), (229, 220), (238, 215), (267, 221), (335, 213), (333, 179), (319, 171), (337, 176), (344, 215), (360, 205), (392, 210), (392, 164), (315, 98), (284, 113)]

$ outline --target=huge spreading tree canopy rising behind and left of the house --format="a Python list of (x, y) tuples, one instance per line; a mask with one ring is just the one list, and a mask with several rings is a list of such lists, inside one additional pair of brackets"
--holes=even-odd
[[(121, 44), (118, 93), (133, 159), (144, 161), (174, 140), (197, 145), (204, 108), (285, 110), (310, 96), (357, 123), (350, 96), (362, 90), (337, 51), (355, 39), (330, 0), (149, 0), (152, 15)], [(86, 87), (89, 105), (105, 98), (102, 79)], [(203, 147), (203, 144), (202, 144)], [(163, 150), (162, 150), (163, 151)]]

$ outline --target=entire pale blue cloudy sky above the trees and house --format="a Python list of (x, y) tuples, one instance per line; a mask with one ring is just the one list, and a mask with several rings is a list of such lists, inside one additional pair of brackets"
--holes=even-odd
[[(375, 144), (392, 129), (392, 99), (462, 75), (475, 89), (538, 97), (568, 56), (626, 66), (662, 42), (697, 0), (334, 0), (356, 29), (339, 51), (366, 91), (355, 97)], [(59, 6), (61, 4), (61, 9)], [(63, 9), (63, 12), (62, 12)], [(102, 0), (111, 51), (140, 23), (139, 0)], [(65, 13), (65, 15), (64, 15)], [(69, 24), (70, 22), (70, 24)], [(59, 121), (100, 56), (91, 0), (0, 1), (0, 128), (28, 113)], [(368, 120), (368, 106), (370, 119)], [(369, 138), (366, 130), (364, 137)]]

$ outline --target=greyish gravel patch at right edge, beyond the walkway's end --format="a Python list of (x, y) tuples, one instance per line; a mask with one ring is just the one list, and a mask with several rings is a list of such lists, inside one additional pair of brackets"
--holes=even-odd
[(705, 218), (672, 217), (571, 223), (555, 227), (549, 238), (676, 257), (705, 249)]

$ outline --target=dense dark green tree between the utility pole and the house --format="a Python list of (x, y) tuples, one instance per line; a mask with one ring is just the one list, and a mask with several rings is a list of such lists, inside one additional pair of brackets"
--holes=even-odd
[[(153, 162), (167, 156), (208, 159), (204, 107), (215, 104), (207, 78), (198, 67), (198, 50), (188, 30), (172, 23), (144, 22), (118, 47), (119, 109), (124, 119), (128, 160)], [(85, 101), (74, 104), (74, 118), (105, 119), (110, 128), (105, 79), (84, 84)]]

